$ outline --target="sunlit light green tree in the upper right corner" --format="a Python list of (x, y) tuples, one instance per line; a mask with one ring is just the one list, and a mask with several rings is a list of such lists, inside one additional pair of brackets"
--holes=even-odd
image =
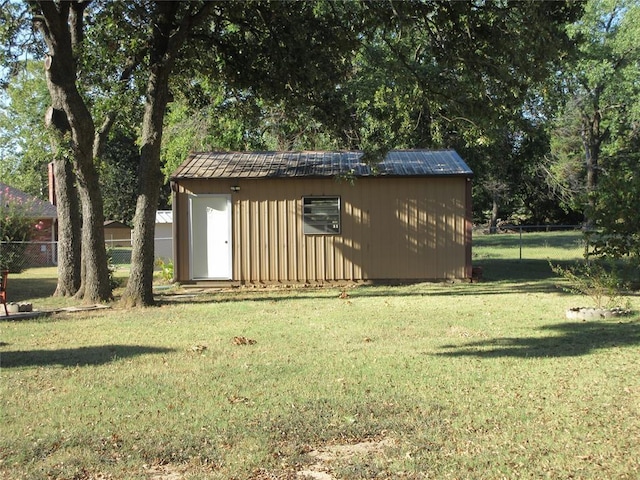
[(638, 135), (640, 4), (592, 0), (567, 30), (576, 50), (555, 79), (550, 174), (565, 204), (587, 214), (609, 160)]

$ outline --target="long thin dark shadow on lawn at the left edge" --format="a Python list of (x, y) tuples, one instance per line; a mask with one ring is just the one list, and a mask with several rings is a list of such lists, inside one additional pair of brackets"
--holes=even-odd
[(63, 348), (58, 350), (16, 350), (0, 352), (2, 368), (62, 367), (103, 365), (121, 358), (150, 353), (169, 353), (171, 348), (144, 347), (140, 345), (100, 345), (93, 347)]

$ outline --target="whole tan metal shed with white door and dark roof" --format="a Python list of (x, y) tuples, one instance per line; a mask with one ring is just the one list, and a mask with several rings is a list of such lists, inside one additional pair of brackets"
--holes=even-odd
[(201, 152), (173, 173), (179, 282), (471, 278), (472, 172), (453, 150)]

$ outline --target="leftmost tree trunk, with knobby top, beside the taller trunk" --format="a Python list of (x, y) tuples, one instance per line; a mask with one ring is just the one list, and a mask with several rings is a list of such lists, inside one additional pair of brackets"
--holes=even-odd
[(54, 162), (58, 210), (58, 285), (54, 296), (70, 297), (80, 289), (82, 221), (71, 163), (57, 155)]

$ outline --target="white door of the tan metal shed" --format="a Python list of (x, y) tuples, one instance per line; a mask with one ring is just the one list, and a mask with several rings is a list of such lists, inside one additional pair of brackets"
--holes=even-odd
[(231, 279), (231, 195), (189, 197), (191, 279)]

